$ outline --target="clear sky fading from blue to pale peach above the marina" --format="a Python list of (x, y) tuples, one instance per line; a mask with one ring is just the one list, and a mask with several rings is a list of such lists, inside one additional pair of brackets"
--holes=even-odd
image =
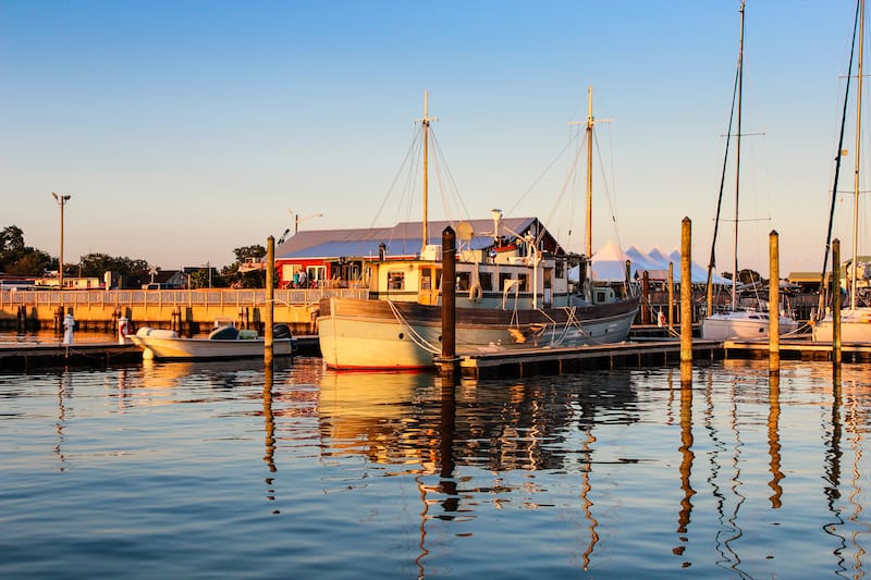
[[(446, 161), (431, 169), (430, 218), (456, 217), (433, 193), (450, 181), (467, 218), (538, 217), (582, 251), (584, 183), (565, 185), (575, 160), (560, 153), (592, 86), (593, 248), (668, 252), (688, 217), (707, 264), (739, 5), (0, 0), (0, 227), (58, 256), (51, 193), (69, 194), (65, 262), (98, 252), (177, 269), (231, 264), (297, 217), (300, 230), (419, 220), (419, 200), (382, 208), (402, 205), (394, 183), (427, 90)], [(783, 275), (822, 267), (854, 11), (747, 2), (740, 268), (768, 272), (771, 231)], [(732, 171), (725, 182), (732, 215)], [(842, 247), (852, 207), (839, 197)], [(733, 226), (721, 226), (720, 272)]]

